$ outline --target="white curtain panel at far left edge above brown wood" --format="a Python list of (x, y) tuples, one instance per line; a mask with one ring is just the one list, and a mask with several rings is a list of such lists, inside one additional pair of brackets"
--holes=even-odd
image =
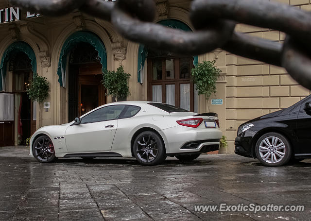
[(0, 120), (14, 120), (14, 94), (0, 93)]

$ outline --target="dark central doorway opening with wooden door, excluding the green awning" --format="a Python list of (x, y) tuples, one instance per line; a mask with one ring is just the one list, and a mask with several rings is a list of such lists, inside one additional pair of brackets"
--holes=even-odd
[(105, 90), (101, 58), (89, 43), (80, 42), (69, 54), (68, 120), (103, 105)]

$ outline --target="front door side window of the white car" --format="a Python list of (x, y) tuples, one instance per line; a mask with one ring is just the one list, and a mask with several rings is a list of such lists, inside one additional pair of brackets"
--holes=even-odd
[(118, 119), (124, 107), (124, 105), (111, 105), (103, 107), (82, 118), (81, 124)]

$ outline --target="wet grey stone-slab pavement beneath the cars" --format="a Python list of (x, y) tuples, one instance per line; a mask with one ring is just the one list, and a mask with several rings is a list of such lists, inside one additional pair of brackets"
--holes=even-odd
[[(0, 148), (0, 220), (310, 220), (311, 159), (286, 167), (201, 155), (145, 167), (135, 159), (58, 159)], [(304, 205), (304, 212), (195, 211), (194, 205)]]

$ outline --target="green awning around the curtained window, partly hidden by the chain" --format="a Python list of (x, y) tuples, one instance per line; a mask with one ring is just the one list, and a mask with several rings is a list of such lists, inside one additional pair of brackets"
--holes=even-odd
[[(186, 25), (184, 22), (176, 20), (176, 19), (167, 19), (157, 22), (158, 24), (164, 25), (166, 27), (180, 29), (186, 32), (192, 32), (190, 27)], [(142, 70), (145, 65), (145, 59), (147, 57), (148, 49), (145, 48), (143, 45), (139, 45), (138, 48), (138, 82), (142, 83)], [(193, 56), (193, 65), (197, 66), (199, 63), (198, 55)]]

